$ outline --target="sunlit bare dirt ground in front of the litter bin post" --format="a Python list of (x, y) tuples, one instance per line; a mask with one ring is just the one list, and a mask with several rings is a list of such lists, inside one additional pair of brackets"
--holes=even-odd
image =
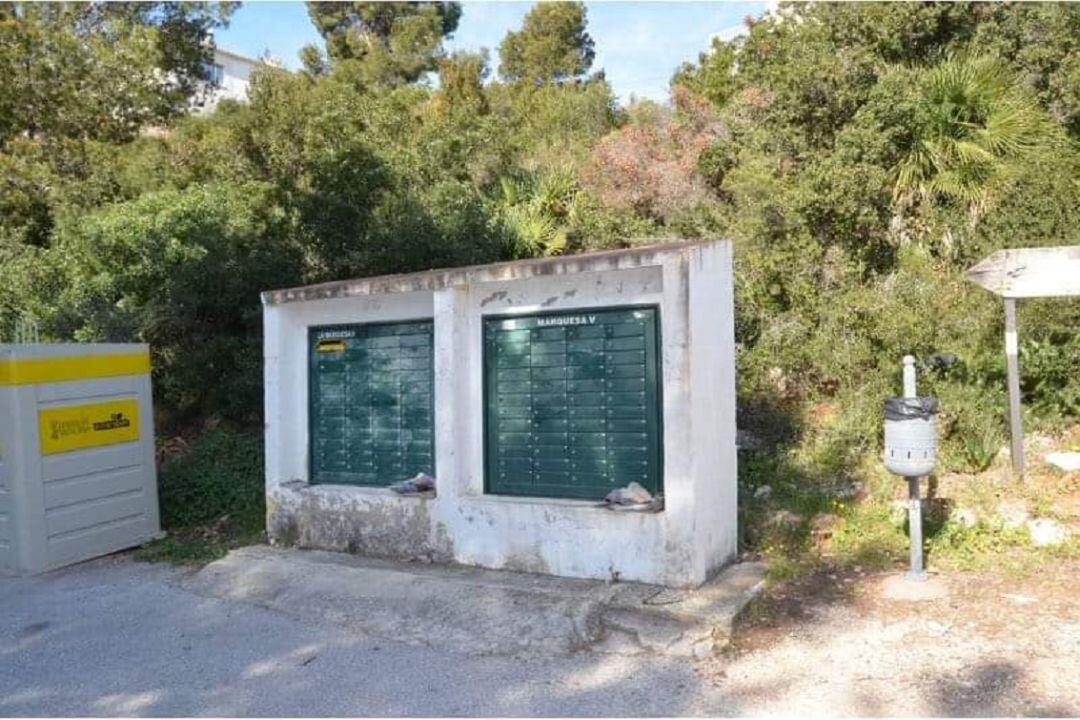
[(889, 578), (774, 587), (699, 676), (755, 715), (1080, 715), (1080, 561), (940, 575), (923, 601), (886, 599)]

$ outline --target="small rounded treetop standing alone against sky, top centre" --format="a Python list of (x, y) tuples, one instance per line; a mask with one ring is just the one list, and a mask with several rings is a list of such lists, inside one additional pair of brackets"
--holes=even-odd
[(585, 24), (584, 3), (537, 3), (499, 44), (499, 74), (536, 85), (584, 77), (596, 56)]

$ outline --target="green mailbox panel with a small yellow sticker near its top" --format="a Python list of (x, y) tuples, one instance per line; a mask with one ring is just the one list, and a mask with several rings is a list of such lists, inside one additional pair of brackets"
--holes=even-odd
[(434, 475), (430, 321), (310, 329), (310, 480)]

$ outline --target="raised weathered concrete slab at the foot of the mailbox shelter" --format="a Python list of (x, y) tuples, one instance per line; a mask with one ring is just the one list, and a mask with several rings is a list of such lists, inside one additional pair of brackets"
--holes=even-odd
[(694, 590), (319, 551), (233, 551), (185, 581), (207, 597), (468, 654), (660, 653), (721, 649), (762, 568), (742, 563)]

